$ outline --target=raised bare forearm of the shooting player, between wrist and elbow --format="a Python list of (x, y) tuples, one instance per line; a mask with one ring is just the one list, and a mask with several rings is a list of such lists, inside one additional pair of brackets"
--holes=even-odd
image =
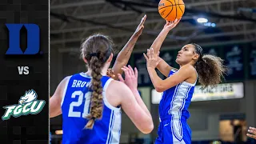
[(155, 38), (153, 44), (150, 46), (154, 49), (154, 53), (158, 54), (158, 51), (160, 50), (162, 46), (162, 42), (166, 39), (167, 34), (169, 33), (170, 30), (168, 29), (162, 29), (160, 34), (158, 34), (158, 37)]

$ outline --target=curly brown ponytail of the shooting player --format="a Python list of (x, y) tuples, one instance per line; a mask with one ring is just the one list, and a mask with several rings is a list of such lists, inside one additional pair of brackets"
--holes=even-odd
[(192, 43), (195, 52), (199, 54), (198, 61), (195, 63), (195, 69), (198, 72), (198, 82), (202, 86), (202, 90), (207, 86), (215, 86), (222, 82), (224, 74), (226, 74), (226, 66), (223, 65), (222, 58), (210, 54), (203, 54), (202, 47)]

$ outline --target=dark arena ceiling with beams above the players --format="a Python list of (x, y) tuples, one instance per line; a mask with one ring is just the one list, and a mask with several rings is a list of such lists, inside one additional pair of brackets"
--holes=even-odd
[[(188, 42), (206, 46), (256, 39), (256, 0), (183, 1), (186, 12), (164, 48)], [(146, 14), (145, 29), (135, 46), (135, 50), (145, 51), (165, 24), (157, 0), (52, 0), (50, 13), (50, 46), (61, 52), (78, 51), (82, 38), (96, 32), (109, 35), (121, 48)], [(202, 16), (211, 22), (209, 26), (196, 21)]]

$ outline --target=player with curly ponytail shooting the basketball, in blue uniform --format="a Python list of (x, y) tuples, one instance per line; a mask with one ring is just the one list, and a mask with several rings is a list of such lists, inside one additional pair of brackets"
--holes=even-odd
[[(190, 144), (191, 130), (186, 120), (190, 117), (188, 107), (197, 79), (202, 89), (205, 89), (207, 86), (220, 83), (226, 72), (226, 66), (222, 65), (221, 58), (203, 54), (202, 47), (195, 43), (187, 44), (178, 51), (178, 70), (158, 57), (162, 42), (178, 22), (179, 20), (166, 22), (150, 50), (144, 54), (154, 88), (158, 92), (163, 92), (159, 104), (158, 138), (155, 143)], [(159, 78), (155, 68), (164, 74), (166, 79)]]

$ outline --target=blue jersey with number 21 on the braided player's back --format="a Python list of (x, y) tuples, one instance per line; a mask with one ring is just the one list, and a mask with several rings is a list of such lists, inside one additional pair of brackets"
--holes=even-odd
[[(119, 143), (121, 134), (120, 107), (111, 106), (106, 100), (106, 88), (113, 80), (103, 76), (102, 119), (95, 120), (92, 130), (85, 128), (90, 114), (91, 90), (90, 77), (84, 73), (74, 74), (66, 83), (62, 98), (62, 143), (63, 144), (90, 144), (90, 143)], [(66, 92), (66, 93), (65, 93)]]

